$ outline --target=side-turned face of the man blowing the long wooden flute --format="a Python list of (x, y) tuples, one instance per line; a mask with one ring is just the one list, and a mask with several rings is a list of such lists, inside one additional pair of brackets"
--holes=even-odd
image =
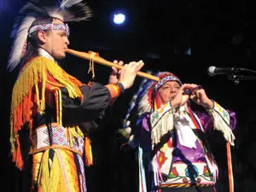
[[(63, 22), (61, 20), (55, 19), (55, 24)], [(55, 59), (63, 59), (66, 56), (67, 45), (69, 44), (67, 34), (63, 30), (52, 30), (46, 35), (46, 42), (44, 49), (49, 52), (50, 55), (55, 57)]]

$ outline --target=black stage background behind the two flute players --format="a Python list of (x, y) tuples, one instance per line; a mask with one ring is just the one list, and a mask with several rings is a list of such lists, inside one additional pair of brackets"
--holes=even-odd
[[(3, 190), (18, 191), (19, 172), (9, 155), (9, 108), (17, 72), (7, 72), (10, 32), (25, 0), (0, 0), (1, 174)], [(93, 50), (102, 58), (125, 62), (143, 60), (143, 72), (175, 73), (183, 83), (201, 84), (207, 95), (237, 113), (236, 147), (232, 148), (236, 191), (255, 192), (255, 80), (235, 84), (227, 75), (210, 77), (207, 68), (243, 67), (256, 70), (256, 19), (253, 1), (238, 0), (89, 0), (94, 17), (70, 24), (70, 48)], [(113, 26), (111, 16), (122, 9), (123, 26)], [(61, 66), (85, 83), (89, 61), (67, 55)], [(111, 69), (96, 65), (96, 81), (107, 84)], [(242, 73), (242, 75), (250, 75)], [(91, 134), (95, 166), (87, 168), (89, 192), (136, 191), (137, 170), (131, 151), (119, 150), (116, 130), (121, 126), (131, 96), (142, 79), (114, 105), (114, 119)], [(220, 168), (219, 191), (228, 191), (225, 144), (217, 133), (209, 137)]]

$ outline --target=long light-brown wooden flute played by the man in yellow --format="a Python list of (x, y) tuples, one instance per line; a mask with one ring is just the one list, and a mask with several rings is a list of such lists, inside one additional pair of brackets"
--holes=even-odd
[[(86, 59), (86, 60), (93, 59), (93, 61), (95, 61), (96, 63), (102, 64), (104, 66), (116, 67), (118, 69), (122, 68), (122, 66), (120, 66), (116, 63), (110, 62), (110, 61), (106, 61), (100, 56), (93, 56), (92, 57), (89, 53), (80, 52), (80, 51), (73, 50), (73, 49), (67, 49), (66, 52), (71, 54), (71, 55), (79, 56), (80, 58), (83, 58), (83, 59)], [(157, 81), (157, 82), (159, 81), (159, 77), (156, 77), (156, 76), (148, 74), (148, 73), (137, 72), (137, 75), (141, 76), (143, 78), (146, 78), (146, 79), (151, 79), (151, 80), (154, 80), (154, 81)]]

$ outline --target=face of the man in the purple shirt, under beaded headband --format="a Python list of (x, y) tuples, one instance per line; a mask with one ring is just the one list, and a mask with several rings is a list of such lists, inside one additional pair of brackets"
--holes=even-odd
[(178, 84), (177, 81), (167, 81), (165, 84), (163, 84), (160, 89), (157, 90), (161, 104), (172, 101), (179, 88), (180, 84)]

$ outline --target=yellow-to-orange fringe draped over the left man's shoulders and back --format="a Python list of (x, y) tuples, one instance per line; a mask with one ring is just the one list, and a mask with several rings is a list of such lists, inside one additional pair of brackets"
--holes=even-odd
[[(11, 152), (14, 154), (13, 161), (20, 170), (23, 167), (23, 160), (18, 132), (26, 122), (29, 122), (29, 128), (32, 129), (32, 113), (44, 113), (48, 76), (52, 78), (52, 81), (60, 84), (60, 87), (66, 87), (70, 97), (82, 99), (82, 93), (79, 90), (82, 83), (67, 74), (55, 61), (38, 56), (26, 64), (26, 68), (20, 73), (13, 89), (10, 113)], [(33, 89), (35, 89), (35, 96), (32, 95)], [(34, 106), (34, 103), (37, 103), (37, 106)]]

